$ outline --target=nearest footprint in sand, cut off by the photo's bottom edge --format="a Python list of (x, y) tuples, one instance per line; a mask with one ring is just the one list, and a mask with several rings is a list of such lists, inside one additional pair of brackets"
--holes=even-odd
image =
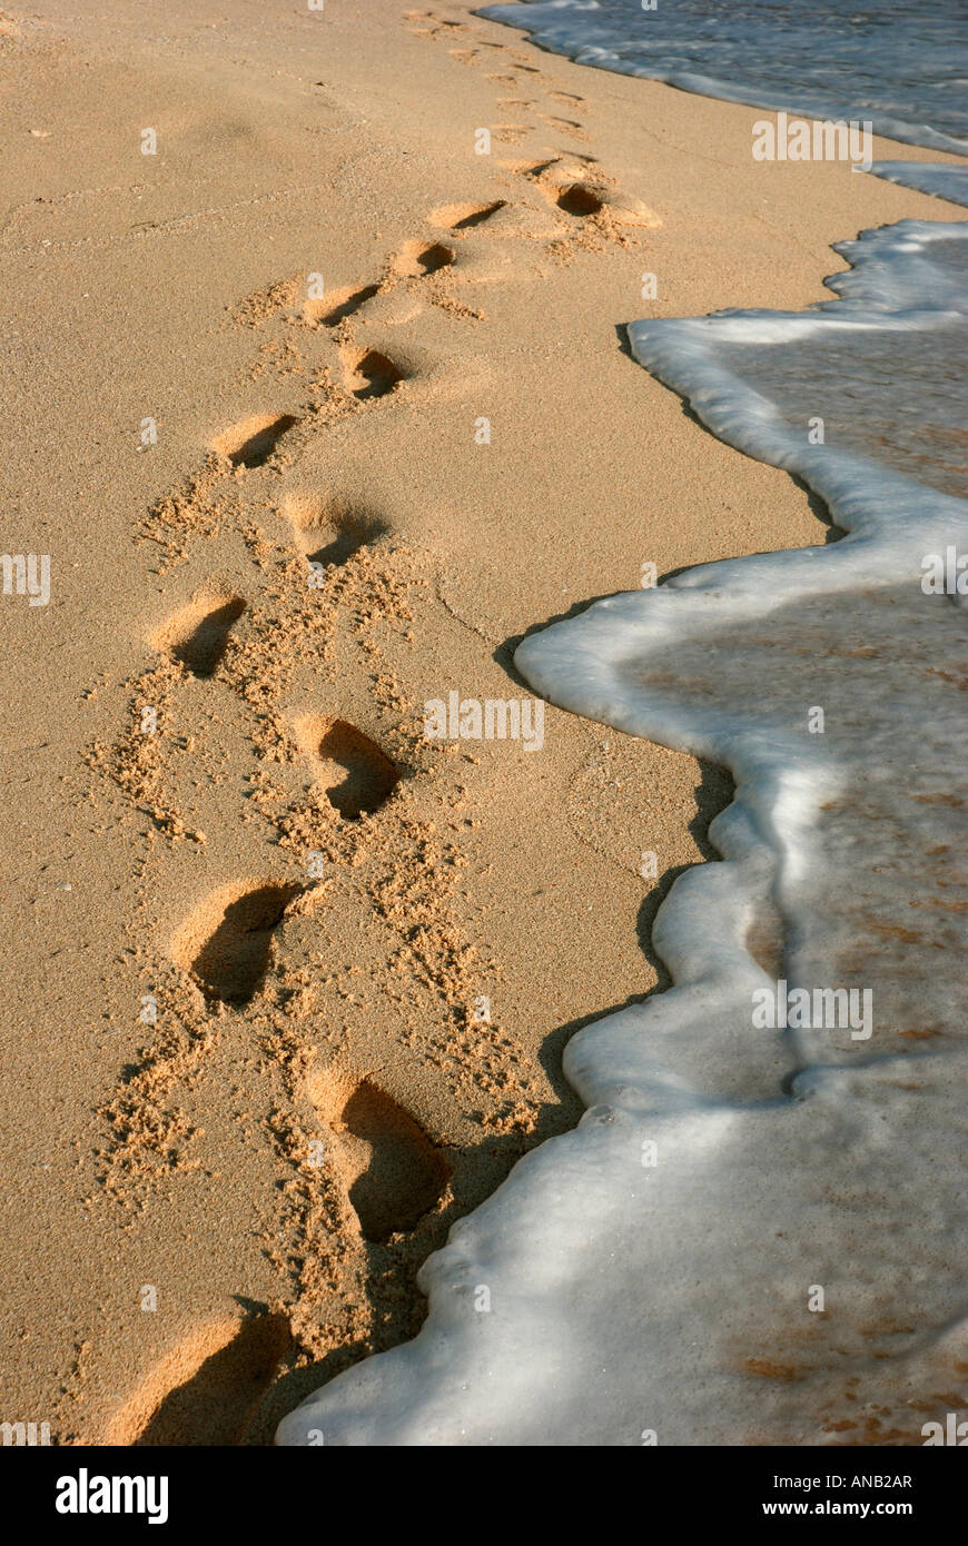
[(110, 1422), (105, 1444), (243, 1444), (257, 1408), (292, 1351), (285, 1316), (204, 1326), (152, 1371)]

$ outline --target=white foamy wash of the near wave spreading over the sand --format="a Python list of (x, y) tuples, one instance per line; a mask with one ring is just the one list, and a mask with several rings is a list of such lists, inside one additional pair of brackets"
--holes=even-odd
[[(965, 201), (960, 167), (874, 170)], [(837, 540), (609, 597), (515, 657), (733, 775), (721, 860), (656, 918), (674, 985), (572, 1037), (575, 1132), (430, 1257), (416, 1340), (283, 1444), (915, 1446), (968, 1418), (968, 600), (926, 583), (968, 555), (968, 221), (837, 250), (806, 312), (628, 329)]]

